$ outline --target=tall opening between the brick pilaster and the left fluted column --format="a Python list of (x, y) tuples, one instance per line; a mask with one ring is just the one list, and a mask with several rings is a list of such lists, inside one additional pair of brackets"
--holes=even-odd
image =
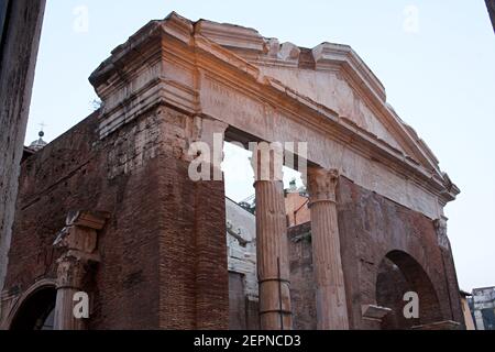
[[(226, 140), (222, 170), (227, 196), (226, 221), (230, 273), (229, 327), (233, 330), (255, 330), (260, 328), (256, 199), (253, 186), (254, 172), (250, 161), (252, 152), (248, 150), (248, 145), (250, 142), (260, 141), (234, 129), (227, 131)], [(285, 196), (290, 189), (295, 193), (298, 188), (302, 188), (300, 173), (288, 166), (284, 166), (283, 172)], [(299, 191), (297, 194), (299, 195)], [(292, 288), (295, 289), (294, 286)]]

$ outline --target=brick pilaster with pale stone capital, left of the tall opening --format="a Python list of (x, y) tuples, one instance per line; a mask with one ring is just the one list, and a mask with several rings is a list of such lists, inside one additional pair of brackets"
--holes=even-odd
[[(226, 242), (226, 191), (221, 163), (226, 123), (195, 119), (197, 142), (208, 145), (201, 169), (207, 177), (195, 183), (196, 197), (196, 329), (229, 328), (229, 271)], [(206, 151), (201, 151), (206, 152)], [(205, 156), (205, 155), (201, 155)]]

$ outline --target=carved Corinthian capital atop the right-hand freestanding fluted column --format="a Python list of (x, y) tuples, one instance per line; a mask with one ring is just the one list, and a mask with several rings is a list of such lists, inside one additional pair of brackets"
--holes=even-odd
[(328, 170), (322, 167), (308, 167), (307, 187), (310, 205), (320, 201), (336, 202), (339, 172), (337, 169)]

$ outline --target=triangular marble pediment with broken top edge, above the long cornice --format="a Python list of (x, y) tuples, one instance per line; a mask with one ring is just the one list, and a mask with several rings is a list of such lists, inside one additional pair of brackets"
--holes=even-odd
[(265, 38), (257, 31), (201, 20), (196, 34), (223, 46), (297, 94), (336, 111), (344, 123), (441, 176), (438, 160), (386, 102), (385, 88), (348, 45), (312, 50)]

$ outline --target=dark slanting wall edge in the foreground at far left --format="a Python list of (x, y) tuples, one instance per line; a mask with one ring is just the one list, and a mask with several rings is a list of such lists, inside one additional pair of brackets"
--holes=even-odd
[(11, 244), (44, 9), (45, 0), (2, 1), (0, 9), (0, 290)]

